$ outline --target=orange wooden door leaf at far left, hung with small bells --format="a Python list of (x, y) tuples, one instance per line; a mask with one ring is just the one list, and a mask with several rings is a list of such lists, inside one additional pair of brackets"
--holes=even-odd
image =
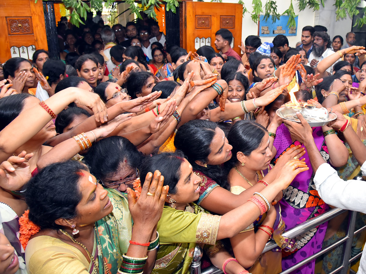
[(0, 29), (1, 63), (11, 57), (31, 59), (37, 49), (48, 48), (41, 0), (0, 1)]

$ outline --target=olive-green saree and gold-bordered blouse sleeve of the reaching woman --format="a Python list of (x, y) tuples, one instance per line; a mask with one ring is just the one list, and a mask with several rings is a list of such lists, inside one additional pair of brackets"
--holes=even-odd
[[(164, 206), (158, 222), (160, 246), (153, 274), (187, 274), (196, 244), (212, 256), (221, 249), (216, 241), (221, 216), (209, 214), (195, 203), (187, 204), (186, 211)], [(167, 225), (168, 224), (168, 225)]]

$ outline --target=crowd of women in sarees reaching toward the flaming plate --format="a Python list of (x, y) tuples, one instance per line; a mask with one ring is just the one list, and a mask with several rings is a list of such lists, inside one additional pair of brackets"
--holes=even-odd
[[(337, 131), (306, 137), (341, 178), (358, 174), (342, 132), (365, 139), (364, 47), (340, 49), (314, 70), (299, 51), (282, 59), (276, 48), (241, 62), (209, 46), (193, 54), (156, 45), (148, 63), (138, 45), (115, 45), (108, 70), (103, 46), (76, 50), (77, 35), (64, 38), (66, 64), (37, 50), (33, 61), (3, 65), (1, 274), (187, 274), (197, 246), (203, 267), (275, 274), (342, 233), (345, 216), (282, 235), (329, 206), (276, 110), (298, 83), (298, 102), (346, 117)], [(357, 78), (337, 62), (350, 52)], [(262, 254), (270, 239), (278, 246)], [(337, 252), (319, 271), (312, 261), (296, 273), (328, 273)]]

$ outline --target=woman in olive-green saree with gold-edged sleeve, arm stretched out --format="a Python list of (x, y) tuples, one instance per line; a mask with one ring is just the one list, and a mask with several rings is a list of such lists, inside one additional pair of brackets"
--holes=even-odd
[[(225, 273), (247, 273), (223, 248), (221, 239), (234, 237), (270, 208), (268, 201), (285, 189), (292, 178), (307, 170), (299, 160), (289, 161), (281, 176), (260, 193), (250, 195), (242, 205), (223, 214), (212, 215), (194, 201), (199, 197), (202, 179), (182, 153), (161, 153), (145, 159), (141, 176), (159, 167), (169, 186), (163, 215), (158, 222), (160, 248), (152, 273), (189, 273), (195, 247), (203, 246), (214, 266)], [(255, 202), (253, 202), (255, 200)], [(167, 225), (169, 224), (169, 225)], [(244, 271), (244, 272), (242, 272)]]

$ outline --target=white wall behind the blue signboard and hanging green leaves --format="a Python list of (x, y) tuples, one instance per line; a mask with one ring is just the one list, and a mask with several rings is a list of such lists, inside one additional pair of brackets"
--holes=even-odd
[[(197, 0), (193, 0), (197, 1)], [(204, 0), (205, 2), (210, 2), (210, 0)], [(249, 11), (243, 17), (243, 27), (242, 27), (242, 39), (248, 35), (258, 35), (258, 25), (254, 23), (250, 17), (250, 13), (253, 11), (252, 0), (243, 0), (245, 7)], [(277, 12), (282, 14), (286, 9), (288, 9), (291, 0), (277, 0)], [(237, 0), (223, 0), (223, 3), (238, 3)], [(265, 0), (262, 0), (263, 5)], [(351, 30), (352, 20), (346, 18), (340, 21), (336, 21), (334, 0), (326, 0), (325, 8), (320, 6), (320, 11), (314, 12), (313, 9), (306, 8), (303, 11), (299, 11), (297, 6), (297, 1), (292, 1), (294, 5), (295, 14), (298, 15), (298, 29), (296, 36), (288, 36), (288, 42), (291, 47), (295, 47), (296, 43), (301, 41), (301, 30), (305, 26), (314, 26), (317, 24), (323, 25), (328, 28), (328, 34), (330, 39), (334, 35), (342, 35), (346, 39), (346, 33)], [(264, 9), (264, 7), (263, 7)], [(269, 18), (268, 20), (271, 20)], [(271, 22), (271, 21), (270, 21)], [(261, 37), (262, 42), (272, 42), (274, 37)]]

